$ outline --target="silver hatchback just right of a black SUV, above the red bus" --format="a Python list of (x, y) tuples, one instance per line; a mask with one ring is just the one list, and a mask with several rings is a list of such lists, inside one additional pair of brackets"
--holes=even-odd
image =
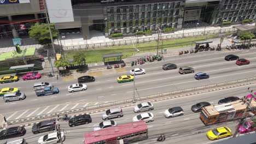
[(102, 114), (103, 120), (108, 120), (110, 118), (123, 117), (123, 110), (121, 108), (108, 109), (105, 113)]

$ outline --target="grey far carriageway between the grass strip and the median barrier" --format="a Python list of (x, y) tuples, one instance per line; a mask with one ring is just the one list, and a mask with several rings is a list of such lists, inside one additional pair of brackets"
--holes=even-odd
[[(229, 54), (247, 58), (251, 63), (238, 66), (235, 64), (235, 61), (225, 61), (224, 57)], [(0, 112), (10, 121), (45, 113), (108, 103), (114, 100), (129, 99), (133, 97), (133, 82), (117, 83), (117, 77), (129, 74), (129, 70), (133, 68), (146, 69), (146, 74), (137, 75), (135, 78), (136, 97), (254, 77), (256, 71), (255, 54), (256, 49), (207, 51), (181, 56), (168, 56), (160, 62), (147, 62), (135, 67), (94, 71), (90, 72), (90, 74), (96, 75), (96, 81), (87, 83), (88, 89), (86, 91), (75, 93), (68, 93), (67, 87), (77, 83), (77, 79), (63, 81), (63, 78), (56, 80), (56, 77), (44, 77), (40, 80), (20, 80), (15, 83), (5, 83), (1, 85), (1, 88), (18, 87), (21, 92), (27, 95), (27, 98), (11, 103), (0, 101)], [(162, 64), (165, 63), (175, 63), (178, 65), (178, 68), (184, 65), (193, 67), (195, 73), (206, 72), (210, 74), (210, 79), (197, 81), (194, 79), (195, 73), (182, 75), (178, 73), (178, 69), (164, 71), (162, 70)], [(75, 76), (73, 77), (76, 78)], [(35, 82), (51, 82), (55, 87), (59, 87), (60, 93), (37, 97), (33, 91), (33, 83)]]

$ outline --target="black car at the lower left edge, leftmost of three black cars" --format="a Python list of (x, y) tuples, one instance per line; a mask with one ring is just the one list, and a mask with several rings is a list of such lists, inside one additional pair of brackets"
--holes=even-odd
[(24, 136), (27, 130), (25, 127), (11, 127), (0, 132), (0, 140), (10, 139), (12, 137)]

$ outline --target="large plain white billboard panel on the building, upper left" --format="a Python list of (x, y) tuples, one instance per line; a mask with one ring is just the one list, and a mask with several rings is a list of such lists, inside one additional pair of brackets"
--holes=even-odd
[(71, 0), (46, 0), (46, 6), (51, 23), (74, 21)]

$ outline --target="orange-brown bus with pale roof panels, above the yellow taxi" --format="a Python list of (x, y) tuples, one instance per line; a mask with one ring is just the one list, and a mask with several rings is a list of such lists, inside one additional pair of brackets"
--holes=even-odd
[[(205, 125), (232, 121), (243, 116), (243, 112), (245, 112), (246, 106), (247, 104), (242, 100), (236, 100), (226, 104), (205, 106), (202, 107), (200, 119)], [(246, 115), (249, 117), (249, 112), (252, 112), (256, 115), (256, 111), (252, 111), (252, 109), (255, 108), (256, 101), (252, 100)]]

